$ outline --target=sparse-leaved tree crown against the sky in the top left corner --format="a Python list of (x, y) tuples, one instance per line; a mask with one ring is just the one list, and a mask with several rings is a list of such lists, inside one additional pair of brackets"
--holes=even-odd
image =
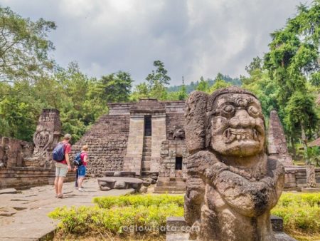
[(0, 81), (34, 81), (50, 71), (54, 47), (47, 34), (55, 28), (53, 21), (23, 19), (0, 6)]

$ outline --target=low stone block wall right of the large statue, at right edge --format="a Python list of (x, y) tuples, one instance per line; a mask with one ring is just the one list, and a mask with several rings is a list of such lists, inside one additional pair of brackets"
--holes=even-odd
[[(285, 167), (284, 189), (301, 190), (306, 188), (306, 168), (305, 167)], [(320, 168), (315, 168), (316, 186), (320, 188)]]

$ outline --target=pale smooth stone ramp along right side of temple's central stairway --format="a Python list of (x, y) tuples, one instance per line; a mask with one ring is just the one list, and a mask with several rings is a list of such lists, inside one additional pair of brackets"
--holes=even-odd
[(152, 115), (151, 163), (150, 173), (159, 172), (161, 158), (161, 143), (166, 140), (166, 113)]

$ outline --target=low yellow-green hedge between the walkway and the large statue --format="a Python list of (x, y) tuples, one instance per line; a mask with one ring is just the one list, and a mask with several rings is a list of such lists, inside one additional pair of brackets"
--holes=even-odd
[[(146, 227), (154, 232), (166, 226), (166, 217), (183, 216), (183, 196), (132, 195), (95, 198), (95, 207), (58, 207), (49, 217), (61, 220), (60, 227), (69, 233), (111, 232), (124, 227)], [(107, 207), (107, 208), (106, 208)]]

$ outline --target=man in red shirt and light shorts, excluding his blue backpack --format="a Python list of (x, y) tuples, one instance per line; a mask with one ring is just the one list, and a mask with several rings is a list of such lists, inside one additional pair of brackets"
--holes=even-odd
[(63, 180), (67, 176), (68, 171), (71, 170), (70, 160), (69, 160), (69, 153), (71, 151), (71, 145), (70, 145), (71, 135), (65, 134), (65, 137), (63, 138), (63, 141), (61, 143), (58, 143), (58, 145), (62, 144), (64, 145), (64, 153), (65, 158), (55, 163), (55, 196), (57, 198), (63, 198)]

